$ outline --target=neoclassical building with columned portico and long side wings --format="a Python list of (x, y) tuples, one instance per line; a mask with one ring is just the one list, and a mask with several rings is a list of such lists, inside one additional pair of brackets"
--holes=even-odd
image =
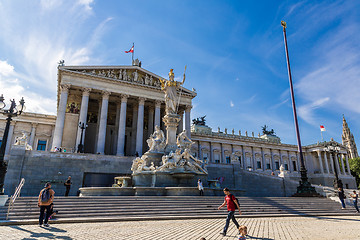
[[(14, 119), (6, 153), (16, 137), (25, 133), (33, 151), (61, 148), (68, 154), (88, 154), (88, 158), (91, 154), (111, 159), (131, 156), (127, 161), (132, 161), (133, 156), (148, 150), (146, 140), (156, 125), (166, 132), (160, 78), (141, 68), (137, 61), (132, 66), (59, 66), (57, 115), (24, 113)], [(279, 174), (282, 166), (287, 177), (299, 179), (296, 145), (281, 143), (273, 135), (248, 136), (247, 132), (243, 135), (240, 131), (228, 133), (226, 129), (213, 131), (206, 125), (191, 125), (192, 99), (196, 92), (180, 87), (178, 95), (177, 110), (181, 116), (178, 133), (187, 131), (195, 143), (192, 152), (196, 157), (219, 169), (238, 165), (244, 170), (269, 175)], [(356, 187), (348, 159), (357, 156), (357, 150), (345, 123), (345, 146), (331, 141), (303, 147), (312, 183), (332, 186), (336, 170), (345, 187)], [(81, 129), (81, 124), (86, 128)], [(0, 134), (4, 127), (5, 118), (0, 116)], [(77, 153), (80, 143), (84, 153)], [(338, 146), (339, 151), (326, 151), (329, 144)]]

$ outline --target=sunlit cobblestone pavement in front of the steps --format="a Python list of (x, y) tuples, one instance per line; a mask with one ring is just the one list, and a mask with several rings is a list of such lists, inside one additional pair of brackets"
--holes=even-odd
[[(242, 218), (248, 239), (360, 239), (360, 216)], [(220, 235), (224, 219), (103, 222), (1, 226), (0, 239), (236, 239), (233, 223), (226, 237)]]

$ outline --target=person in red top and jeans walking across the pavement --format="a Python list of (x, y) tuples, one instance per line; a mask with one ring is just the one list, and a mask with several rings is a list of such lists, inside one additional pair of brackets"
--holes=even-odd
[(218, 209), (220, 210), (222, 207), (227, 205), (228, 216), (226, 218), (226, 224), (225, 224), (224, 230), (220, 233), (221, 235), (226, 236), (226, 232), (229, 228), (230, 220), (232, 220), (233, 223), (236, 225), (236, 229), (239, 229), (239, 223), (236, 221), (234, 215), (235, 215), (236, 208), (239, 209), (240, 215), (241, 215), (241, 210), (240, 210), (240, 206), (239, 206), (239, 203), (237, 202), (236, 197), (230, 193), (230, 190), (228, 188), (224, 188), (224, 194), (225, 194), (224, 203), (221, 204), (218, 207)]

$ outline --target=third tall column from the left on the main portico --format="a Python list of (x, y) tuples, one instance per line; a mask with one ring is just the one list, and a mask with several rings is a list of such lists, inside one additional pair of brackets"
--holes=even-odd
[(106, 124), (107, 124), (107, 113), (109, 107), (109, 96), (110, 92), (103, 91), (102, 101), (101, 101), (101, 113), (100, 113), (100, 123), (99, 123), (99, 134), (97, 141), (96, 152), (104, 154), (105, 149), (105, 139), (106, 139)]

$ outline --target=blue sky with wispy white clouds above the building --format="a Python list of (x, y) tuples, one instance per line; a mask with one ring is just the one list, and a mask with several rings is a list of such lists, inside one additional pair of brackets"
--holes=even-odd
[(130, 65), (195, 88), (192, 118), (296, 143), (281, 20), (304, 145), (341, 142), (342, 114), (360, 138), (359, 1), (0, 0), (0, 93), (56, 112), (57, 62)]

